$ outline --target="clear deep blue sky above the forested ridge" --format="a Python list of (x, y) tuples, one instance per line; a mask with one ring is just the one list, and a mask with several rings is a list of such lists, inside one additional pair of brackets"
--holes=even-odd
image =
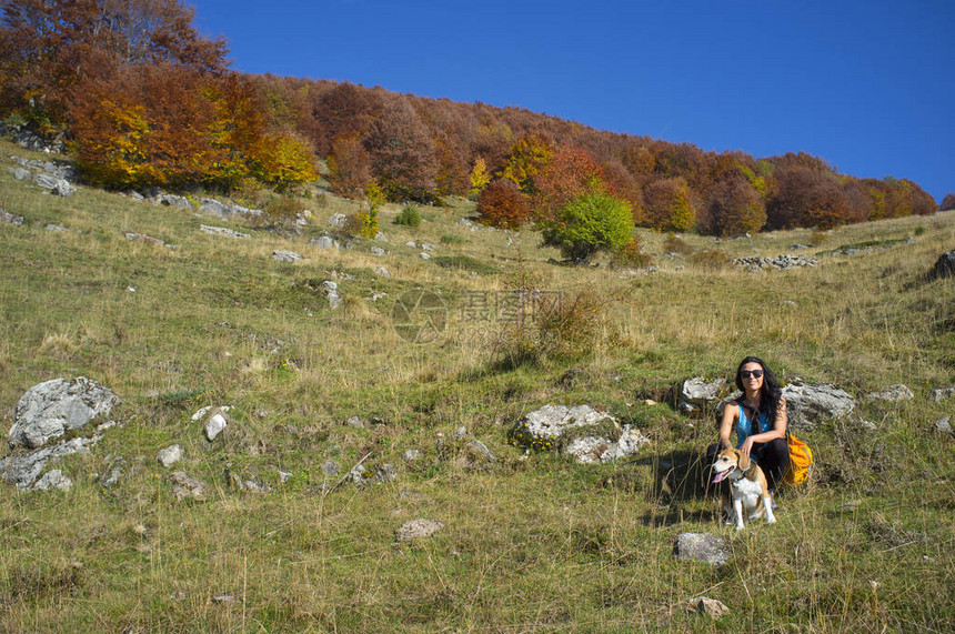
[(198, 0), (240, 71), (517, 105), (955, 192), (955, 0)]

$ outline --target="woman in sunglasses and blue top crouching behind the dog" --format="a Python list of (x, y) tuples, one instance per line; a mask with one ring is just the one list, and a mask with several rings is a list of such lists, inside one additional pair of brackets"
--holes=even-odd
[(740, 362), (736, 388), (743, 395), (723, 410), (720, 443), (711, 447), (711, 457), (715, 460), (722, 450), (733, 449), (730, 435), (736, 430), (736, 449), (760, 465), (773, 494), (790, 466), (786, 400), (772, 371), (755, 356)]

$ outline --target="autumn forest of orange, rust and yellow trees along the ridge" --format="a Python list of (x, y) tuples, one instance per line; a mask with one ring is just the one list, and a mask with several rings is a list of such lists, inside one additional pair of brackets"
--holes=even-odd
[(520, 108), (237, 73), (227, 43), (203, 38), (178, 0), (2, 6), (0, 118), (64, 139), (83, 178), (108, 189), (289, 191), (321, 171), (349, 198), (471, 197), (504, 228), (599, 194), (636, 225), (715, 235), (937, 209), (911, 180), (842, 174), (806, 153), (706, 152)]

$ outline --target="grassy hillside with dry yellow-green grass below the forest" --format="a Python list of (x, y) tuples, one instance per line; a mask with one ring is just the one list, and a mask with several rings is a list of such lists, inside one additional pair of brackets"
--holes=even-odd
[[(392, 224), (400, 208), (389, 205), (388, 243), (322, 250), (310, 241), (352, 203), (298, 201), (314, 218), (296, 234), (87, 188), (48, 195), (8, 173), (14, 152), (26, 155), (0, 143), (0, 209), (26, 219), (0, 224), (0, 423), (9, 429), (27, 389), (58, 376), (96, 379), (123, 402), (121, 426), (64, 461), (70, 491), (0, 489), (0, 630), (955, 628), (955, 441), (931, 431), (955, 414), (931, 397), (955, 384), (955, 284), (924, 280), (955, 248), (955, 214), (683, 244), (642, 231), (657, 268), (647, 273), (549, 263), (557, 253), (535, 233), (459, 223), (466, 201), (424, 208), (418, 229)], [(435, 245), (429, 260), (422, 243)], [(797, 253), (795, 243), (818, 256), (814, 268), (718, 265)], [(840, 254), (861, 244), (874, 248)], [(279, 263), (274, 250), (304, 260)], [(324, 281), (338, 283), (338, 310)], [(562, 345), (489, 308), (522, 285), (579, 300)], [(440, 336), (412, 343), (393, 310), (422, 291), (446, 320), (434, 322)], [(847, 421), (804, 434), (814, 481), (781, 495), (777, 524), (734, 534), (695, 486), (715, 426), (666, 397), (690, 376), (731, 376), (751, 353), (783, 380), (855, 395), (905, 383), (916, 396), (861, 401), (874, 431)], [(593, 404), (652, 443), (606, 465), (525, 456), (507, 430), (547, 403)], [(209, 443), (190, 417), (219, 404), (233, 407), (230, 426)], [(469, 452), (453, 437), (461, 426), (497, 460)], [(212, 485), (207, 502), (172, 495), (155, 455), (173, 443), (184, 450), (174, 469)], [(410, 449), (421, 455), (408, 462)], [(360, 461), (398, 477), (343, 482)], [(114, 466), (122, 476), (103, 486)], [(229, 487), (227, 467), (271, 492)], [(418, 517), (444, 529), (396, 541)], [(676, 561), (683, 532), (726, 535), (733, 562)], [(700, 595), (732, 615), (688, 613)]]

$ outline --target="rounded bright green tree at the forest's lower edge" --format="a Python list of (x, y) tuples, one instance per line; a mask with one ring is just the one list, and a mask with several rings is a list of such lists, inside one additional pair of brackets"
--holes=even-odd
[(553, 220), (542, 222), (544, 244), (557, 246), (575, 262), (586, 262), (601, 249), (622, 249), (631, 239), (631, 227), (630, 204), (596, 184), (559, 209)]

